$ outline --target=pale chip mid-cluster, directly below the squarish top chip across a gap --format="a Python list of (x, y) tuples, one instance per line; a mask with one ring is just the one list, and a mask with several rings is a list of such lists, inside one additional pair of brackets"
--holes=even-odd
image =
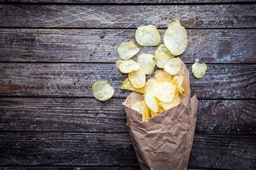
[(156, 66), (154, 55), (142, 53), (138, 56), (137, 62), (146, 75), (151, 75), (154, 72), (154, 67)]

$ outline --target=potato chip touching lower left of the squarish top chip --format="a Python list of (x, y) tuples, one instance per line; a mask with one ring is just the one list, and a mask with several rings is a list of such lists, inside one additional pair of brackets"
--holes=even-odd
[(137, 47), (134, 42), (123, 42), (117, 49), (117, 53), (121, 59), (127, 60), (132, 58), (139, 52), (139, 47)]

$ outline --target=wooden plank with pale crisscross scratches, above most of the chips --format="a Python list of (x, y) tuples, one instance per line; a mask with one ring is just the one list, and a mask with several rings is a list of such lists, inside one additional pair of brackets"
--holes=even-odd
[(0, 5), (2, 27), (186, 28), (255, 27), (255, 4), (225, 5)]

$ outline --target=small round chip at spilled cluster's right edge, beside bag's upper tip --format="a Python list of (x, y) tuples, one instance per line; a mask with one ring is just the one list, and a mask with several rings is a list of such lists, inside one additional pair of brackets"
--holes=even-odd
[(164, 66), (164, 69), (167, 73), (176, 75), (180, 71), (181, 63), (182, 61), (179, 58), (170, 59), (170, 61)]

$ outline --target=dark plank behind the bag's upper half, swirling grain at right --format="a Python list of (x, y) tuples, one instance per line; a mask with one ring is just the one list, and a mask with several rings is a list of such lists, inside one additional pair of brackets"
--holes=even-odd
[[(0, 131), (128, 132), (123, 98), (0, 98)], [(256, 101), (199, 100), (196, 134), (256, 134)]]

